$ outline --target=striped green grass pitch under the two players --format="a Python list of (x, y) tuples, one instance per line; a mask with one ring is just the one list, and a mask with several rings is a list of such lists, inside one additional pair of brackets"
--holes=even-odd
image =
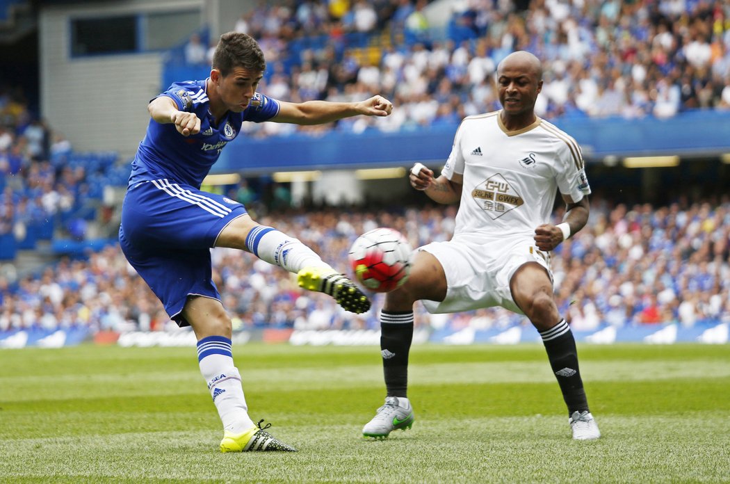
[(602, 439), (573, 442), (540, 345), (412, 349), (410, 431), (368, 441), (377, 347), (234, 347), (298, 453), (222, 454), (194, 348), (0, 351), (3, 483), (730, 482), (728, 345), (580, 345)]

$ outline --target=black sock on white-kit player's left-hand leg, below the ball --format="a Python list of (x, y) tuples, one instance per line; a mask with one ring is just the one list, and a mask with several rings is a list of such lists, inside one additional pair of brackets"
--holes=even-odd
[(380, 312), (380, 354), (388, 396), (407, 397), (408, 352), (413, 339), (413, 312)]

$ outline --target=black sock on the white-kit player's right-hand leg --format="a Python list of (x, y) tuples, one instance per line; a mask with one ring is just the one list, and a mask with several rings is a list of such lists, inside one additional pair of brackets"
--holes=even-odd
[(548, 351), (548, 359), (558, 385), (563, 392), (563, 399), (568, 406), (568, 415), (573, 412), (588, 411), (588, 399), (585, 398), (583, 380), (578, 369), (578, 352), (575, 337), (564, 319), (547, 331), (541, 331), (542, 343)]

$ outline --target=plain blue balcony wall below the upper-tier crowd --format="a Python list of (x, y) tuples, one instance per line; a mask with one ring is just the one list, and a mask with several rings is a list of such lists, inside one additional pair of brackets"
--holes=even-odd
[[(730, 111), (684, 112), (675, 118), (563, 118), (553, 121), (571, 134), (588, 161), (613, 155), (721, 155), (730, 153)], [(293, 134), (228, 143), (213, 173), (296, 169), (373, 168), (443, 163), (458, 124), (383, 133)]]

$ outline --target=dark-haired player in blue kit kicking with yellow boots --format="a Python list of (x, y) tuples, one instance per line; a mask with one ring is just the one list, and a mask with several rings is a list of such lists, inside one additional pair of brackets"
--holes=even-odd
[(179, 326), (192, 326), (200, 371), (220, 419), (220, 450), (295, 450), (254, 424), (231, 351), (231, 319), (212, 281), (211, 247), (234, 247), (297, 274), (302, 288), (320, 291), (345, 309), (366, 312), (370, 302), (318, 254), (272, 227), (261, 226), (242, 204), (200, 190), (220, 150), (244, 121), (312, 125), (356, 115), (387, 116), (383, 96), (360, 102), (272, 99), (256, 89), (264, 53), (247, 34), (223, 34), (206, 80), (174, 83), (147, 106), (151, 120), (132, 163), (119, 241), (129, 263)]

